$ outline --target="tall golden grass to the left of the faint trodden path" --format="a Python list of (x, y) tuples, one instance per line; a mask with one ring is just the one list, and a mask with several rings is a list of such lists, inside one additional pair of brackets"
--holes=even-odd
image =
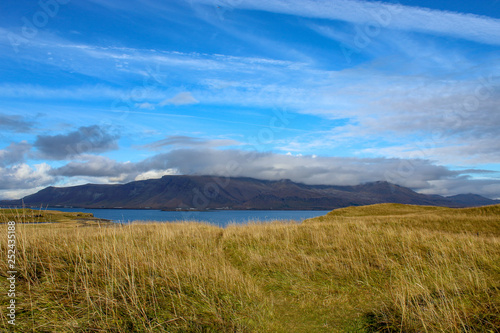
[(17, 234), (19, 332), (245, 331), (261, 316), (258, 288), (224, 260), (216, 227), (18, 225)]

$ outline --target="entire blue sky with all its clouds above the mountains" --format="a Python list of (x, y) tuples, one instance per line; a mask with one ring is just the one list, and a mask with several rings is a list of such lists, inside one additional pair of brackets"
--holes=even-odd
[(500, 1), (0, 4), (0, 198), (166, 174), (500, 198)]

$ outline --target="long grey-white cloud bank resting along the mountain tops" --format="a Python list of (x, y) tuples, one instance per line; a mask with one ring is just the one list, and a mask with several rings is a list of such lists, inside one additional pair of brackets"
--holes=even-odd
[[(450, 170), (423, 159), (293, 156), (237, 149), (176, 149), (136, 163), (103, 156), (85, 156), (50, 171), (54, 177), (107, 177), (120, 181), (144, 179), (148, 172), (215, 175), (259, 179), (291, 179), (305, 184), (356, 185), (386, 180), (434, 194), (458, 194), (458, 190), (500, 197), (500, 181), (478, 182), (467, 172)], [(485, 171), (487, 172), (487, 171)], [(477, 185), (480, 185), (477, 187)]]

